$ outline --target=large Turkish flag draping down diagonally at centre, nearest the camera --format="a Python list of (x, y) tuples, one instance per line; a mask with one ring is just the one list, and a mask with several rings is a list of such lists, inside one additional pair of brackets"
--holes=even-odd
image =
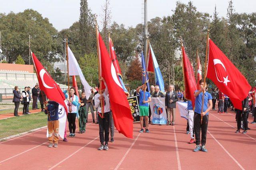
[(133, 118), (128, 100), (118, 80), (115, 67), (110, 59), (106, 45), (97, 30), (97, 43), (99, 51), (100, 75), (108, 86), (110, 106), (113, 113), (114, 125), (119, 133), (133, 138)]

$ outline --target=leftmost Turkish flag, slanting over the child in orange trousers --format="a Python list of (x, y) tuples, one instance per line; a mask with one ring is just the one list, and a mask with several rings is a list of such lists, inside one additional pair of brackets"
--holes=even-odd
[(40, 89), (44, 91), (48, 99), (64, 106), (66, 113), (68, 114), (68, 109), (66, 107), (66, 104), (64, 103), (65, 96), (62, 90), (60, 89), (58, 84), (52, 79), (50, 74), (46, 71), (44, 66), (42, 66), (40, 61), (37, 59), (36, 55), (32, 52), (31, 54), (34, 67), (36, 68), (36, 74), (38, 78), (38, 83), (40, 85)]

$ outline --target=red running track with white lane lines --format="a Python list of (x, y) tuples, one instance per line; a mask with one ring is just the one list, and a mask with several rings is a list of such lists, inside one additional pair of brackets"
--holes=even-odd
[(97, 150), (98, 125), (89, 119), (86, 133), (60, 141), (58, 148), (47, 147), (46, 129), (0, 142), (0, 169), (253, 169), (256, 127), (249, 124), (246, 135), (234, 133), (234, 115), (210, 112), (207, 153), (192, 151), (195, 144), (188, 144), (186, 119), (179, 113), (175, 126), (150, 125), (150, 133), (138, 133), (134, 123), (134, 139), (115, 131), (109, 150)]

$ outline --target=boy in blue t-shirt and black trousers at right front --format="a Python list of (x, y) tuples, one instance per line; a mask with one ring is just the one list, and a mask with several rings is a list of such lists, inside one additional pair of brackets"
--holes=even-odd
[[(201, 79), (199, 81), (200, 84), (200, 90), (196, 90), (194, 93), (194, 96), (196, 98), (195, 102), (195, 115), (194, 115), (194, 131), (196, 136), (196, 148), (194, 149), (194, 152), (198, 152), (199, 150), (202, 150), (203, 152), (207, 152), (208, 150), (205, 147), (206, 144), (206, 133), (207, 133), (207, 127), (208, 127), (208, 120), (209, 120), (209, 110), (212, 108), (212, 95), (208, 93), (205, 89), (207, 84), (204, 85), (203, 80)], [(204, 92), (204, 106), (203, 106), (203, 112), (201, 113), (202, 109), (202, 99), (203, 99), (203, 92)], [(209, 107), (207, 106), (209, 102)], [(201, 116), (202, 119), (202, 125), (201, 125)], [(202, 140), (201, 140), (201, 147), (200, 147), (200, 131), (202, 131)]]

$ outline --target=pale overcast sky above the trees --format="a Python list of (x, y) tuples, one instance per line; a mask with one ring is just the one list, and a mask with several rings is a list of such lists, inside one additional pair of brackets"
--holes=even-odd
[[(88, 6), (93, 13), (98, 15), (101, 28), (100, 15), (105, 0), (88, 0)], [(111, 21), (135, 27), (142, 23), (142, 1), (144, 0), (110, 0)], [(148, 0), (148, 20), (155, 17), (171, 15), (177, 0)], [(179, 0), (188, 3), (188, 0)], [(199, 12), (214, 12), (216, 4), (220, 17), (226, 17), (229, 0), (192, 0)], [(256, 0), (233, 0), (235, 11), (238, 13), (255, 12)], [(79, 20), (80, 0), (0, 0), (0, 13), (23, 12), (25, 9), (38, 11), (58, 31), (70, 27)]]

